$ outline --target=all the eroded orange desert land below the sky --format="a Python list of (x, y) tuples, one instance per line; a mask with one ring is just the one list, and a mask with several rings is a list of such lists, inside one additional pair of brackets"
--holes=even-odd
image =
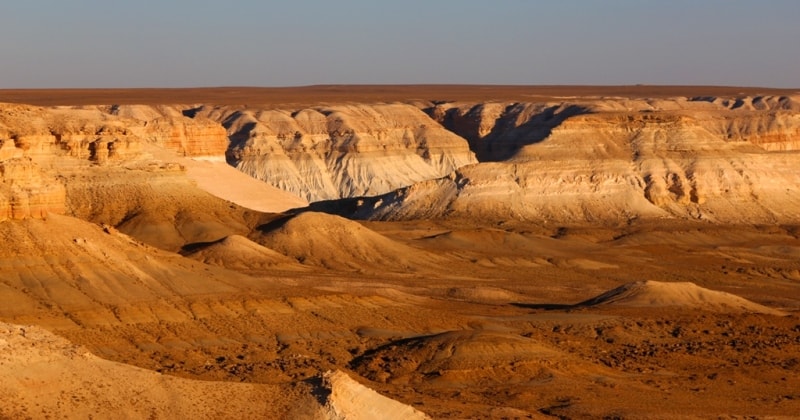
[(0, 417), (800, 412), (798, 92), (0, 102)]

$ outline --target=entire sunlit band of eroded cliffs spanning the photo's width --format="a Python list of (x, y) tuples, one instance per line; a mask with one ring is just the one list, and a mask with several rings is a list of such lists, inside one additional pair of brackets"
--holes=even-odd
[[(112, 199), (102, 185), (129, 191), (122, 180), (135, 173), (129, 178), (149, 185), (144, 189), (191, 187), (180, 165), (152, 163), (155, 146), (227, 158), (309, 201), (377, 197), (356, 205), (363, 218), (796, 221), (799, 103), (794, 97), (588, 98), (426, 108), (463, 138), (405, 104), (296, 111), (4, 105), (0, 218), (66, 211), (124, 223), (130, 209), (99, 203), (97, 197)], [(468, 146), (493, 162), (476, 163)], [(109, 174), (119, 179), (103, 181)], [(181, 229), (170, 247), (187, 237)], [(210, 231), (188, 236), (223, 233)]]

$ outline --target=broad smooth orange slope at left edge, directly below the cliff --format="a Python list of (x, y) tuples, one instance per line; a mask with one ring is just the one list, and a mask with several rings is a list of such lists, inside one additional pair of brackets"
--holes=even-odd
[(171, 301), (254, 281), (67, 216), (2, 222), (0, 240), (0, 316), (16, 323), (186, 319)]

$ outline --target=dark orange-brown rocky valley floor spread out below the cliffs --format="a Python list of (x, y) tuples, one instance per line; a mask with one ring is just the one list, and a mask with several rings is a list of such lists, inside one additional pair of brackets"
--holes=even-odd
[[(42, 324), (112, 361), (293, 395), (339, 369), (434, 418), (800, 412), (796, 227), (365, 225), (437, 264), (251, 271), (256, 281), (232, 280), (234, 292)], [(689, 297), (672, 307), (572, 306), (641, 280), (693, 282), (788, 315)], [(287, 415), (291, 404), (271, 412)]]

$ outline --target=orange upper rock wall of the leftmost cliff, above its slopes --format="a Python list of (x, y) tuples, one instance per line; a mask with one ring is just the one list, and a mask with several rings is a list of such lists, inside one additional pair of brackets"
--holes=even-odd
[(29, 156), (67, 156), (98, 164), (142, 157), (151, 143), (189, 157), (221, 160), (225, 128), (184, 116), (180, 107), (84, 106), (40, 108), (1, 105), (0, 138)]

